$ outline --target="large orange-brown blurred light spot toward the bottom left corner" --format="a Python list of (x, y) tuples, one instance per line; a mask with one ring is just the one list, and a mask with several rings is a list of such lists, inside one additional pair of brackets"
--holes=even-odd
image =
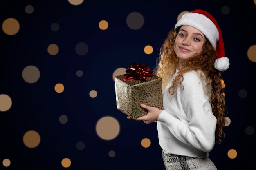
[(40, 143), (40, 135), (34, 130), (27, 131), (23, 136), (23, 143), (29, 148), (35, 148)]

